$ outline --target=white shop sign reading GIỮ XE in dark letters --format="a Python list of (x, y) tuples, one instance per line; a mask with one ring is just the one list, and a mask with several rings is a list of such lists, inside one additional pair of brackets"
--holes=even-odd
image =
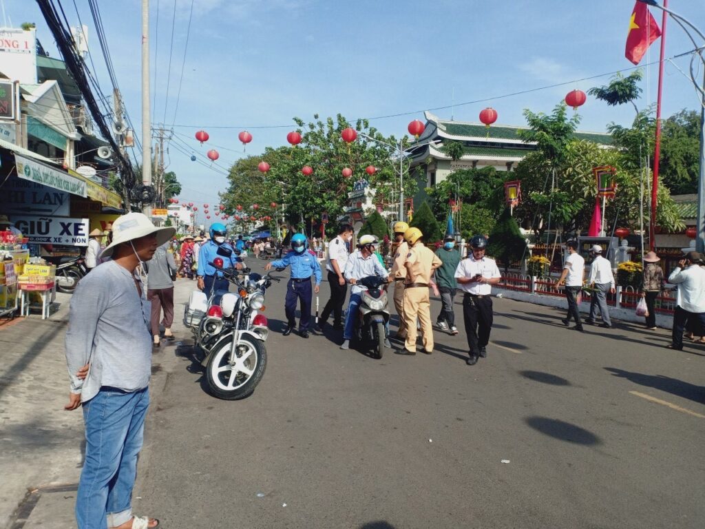
[(13, 226), (33, 244), (87, 246), (90, 233), (88, 219), (68, 217), (10, 217)]

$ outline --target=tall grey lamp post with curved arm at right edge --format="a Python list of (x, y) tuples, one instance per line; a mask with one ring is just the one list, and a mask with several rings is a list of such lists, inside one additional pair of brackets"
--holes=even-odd
[[(700, 61), (705, 67), (705, 56), (703, 56), (703, 53), (705, 52), (705, 35), (701, 30), (699, 30), (696, 26), (694, 26), (689, 20), (686, 18), (683, 18), (682, 16), (678, 15), (678, 13), (674, 13), (670, 9), (668, 9), (665, 6), (661, 6), (658, 4), (656, 0), (639, 0), (642, 2), (642, 4), (647, 4), (649, 6), (653, 6), (655, 8), (661, 9), (661, 11), (664, 11), (670, 15), (673, 20), (675, 20), (678, 25), (682, 28), (683, 31), (685, 31), (686, 35), (688, 38), (691, 40), (695, 47), (695, 51), (693, 51), (693, 55), (690, 59), (690, 80), (693, 83), (693, 86), (695, 87), (695, 90), (699, 93), (701, 100), (701, 111), (700, 111), (700, 175), (698, 178), (698, 218), (696, 221), (696, 228), (697, 228), (697, 235), (695, 239), (695, 245), (696, 245), (696, 250), (700, 253), (705, 252), (705, 73), (703, 74), (703, 80), (702, 83), (699, 84), (698, 80), (695, 78), (695, 71), (693, 67), (693, 62), (695, 60), (695, 55), (697, 54), (700, 57)], [(702, 39), (702, 44), (698, 45), (696, 40), (693, 38), (693, 35), (689, 30), (686, 28), (691, 28), (695, 33), (697, 33), (698, 37)]]

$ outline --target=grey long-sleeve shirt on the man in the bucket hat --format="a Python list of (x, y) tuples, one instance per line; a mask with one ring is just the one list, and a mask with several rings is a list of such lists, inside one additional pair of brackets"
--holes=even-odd
[[(152, 371), (150, 303), (137, 294), (133, 275), (114, 261), (83, 277), (71, 298), (66, 363), (71, 391), (90, 401), (102, 386), (124, 391), (147, 387)], [(90, 362), (85, 380), (75, 373)]]

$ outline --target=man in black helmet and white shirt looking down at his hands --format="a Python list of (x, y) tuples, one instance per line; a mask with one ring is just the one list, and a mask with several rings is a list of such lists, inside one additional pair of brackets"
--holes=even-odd
[(486, 358), (486, 346), (492, 329), (492, 286), (499, 283), (501, 274), (494, 259), (485, 257), (487, 239), (476, 235), (470, 240), (470, 255), (460, 261), (455, 270), (458, 288), (465, 292), (462, 298), (462, 317), (465, 320), (467, 346), (470, 358), (467, 365), (475, 365), (477, 358)]

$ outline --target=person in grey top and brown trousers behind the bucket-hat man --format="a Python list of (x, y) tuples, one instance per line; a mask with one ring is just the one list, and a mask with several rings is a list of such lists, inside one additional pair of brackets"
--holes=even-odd
[(174, 320), (174, 284), (176, 280), (176, 262), (173, 255), (168, 251), (169, 244), (165, 243), (154, 252), (154, 256), (145, 262), (147, 268), (147, 299), (152, 304), (150, 326), (152, 328), (152, 339), (154, 345), (159, 346), (159, 317), (164, 311), (164, 339), (173, 341), (171, 334), (171, 324)]

